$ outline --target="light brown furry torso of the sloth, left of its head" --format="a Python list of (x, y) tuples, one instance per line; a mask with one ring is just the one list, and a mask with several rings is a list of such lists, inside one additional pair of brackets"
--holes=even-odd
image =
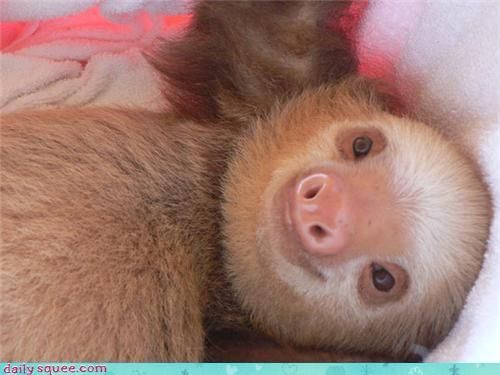
[(2, 360), (200, 360), (231, 131), (78, 109), (1, 130)]

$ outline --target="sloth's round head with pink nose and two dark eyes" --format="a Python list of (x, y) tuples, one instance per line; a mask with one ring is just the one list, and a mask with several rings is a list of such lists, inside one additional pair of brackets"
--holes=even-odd
[(277, 106), (225, 180), (226, 266), (260, 330), (405, 357), (451, 328), (480, 270), (489, 197), (435, 130), (360, 82)]

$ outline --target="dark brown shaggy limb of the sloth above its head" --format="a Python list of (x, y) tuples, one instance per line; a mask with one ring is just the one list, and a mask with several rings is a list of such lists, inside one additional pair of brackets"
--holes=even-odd
[[(178, 40), (150, 61), (174, 112), (247, 120), (307, 87), (357, 70), (346, 35), (350, 1), (202, 1)], [(342, 18), (342, 22), (341, 22)]]

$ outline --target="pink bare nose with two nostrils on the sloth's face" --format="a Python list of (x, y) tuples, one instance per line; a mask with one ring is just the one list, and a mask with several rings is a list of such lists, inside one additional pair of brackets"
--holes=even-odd
[(348, 192), (334, 172), (302, 177), (290, 196), (290, 220), (303, 249), (312, 255), (333, 255), (346, 248), (352, 233)]

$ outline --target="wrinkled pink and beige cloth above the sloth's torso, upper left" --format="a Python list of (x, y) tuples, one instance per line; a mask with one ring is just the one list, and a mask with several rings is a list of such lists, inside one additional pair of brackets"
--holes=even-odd
[[(131, 2), (104, 1), (101, 8)], [(13, 0), (6, 4), (16, 4), (24, 19), (22, 3)], [(57, 1), (30, 2), (35, 3)], [(84, 2), (64, 2), (69, 8), (76, 3)], [(102, 15), (101, 8), (45, 21), (2, 24), (2, 112), (61, 105), (119, 105), (152, 110), (165, 106), (158, 77), (143, 52), (158, 37), (178, 30), (188, 18), (135, 11), (121, 14), (112, 22)], [(25, 10), (29, 15), (33, 8)], [(55, 9), (51, 14), (56, 14)]]

